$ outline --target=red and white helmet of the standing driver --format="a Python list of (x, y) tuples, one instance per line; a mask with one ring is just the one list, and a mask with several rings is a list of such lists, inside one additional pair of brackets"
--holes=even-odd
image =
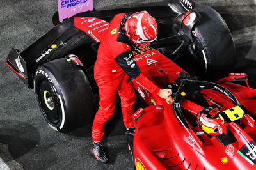
[(136, 45), (148, 45), (157, 38), (156, 19), (147, 11), (130, 15), (125, 22), (124, 29), (128, 38)]

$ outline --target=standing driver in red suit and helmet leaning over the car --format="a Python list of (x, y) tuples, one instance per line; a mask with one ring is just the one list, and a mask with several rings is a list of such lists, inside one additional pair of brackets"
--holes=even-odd
[[(123, 121), (127, 132), (134, 133), (132, 114), (136, 94), (131, 84), (140, 84), (150, 93), (155, 93), (166, 102), (172, 102), (170, 89), (159, 89), (144, 77), (134, 61), (132, 49), (136, 45), (148, 45), (157, 38), (156, 19), (146, 11), (131, 14), (120, 13), (109, 24), (108, 31), (100, 42), (94, 77), (99, 86), (99, 110), (92, 127), (92, 153), (100, 162), (106, 163), (109, 158), (100, 143), (104, 127), (114, 114), (116, 93), (121, 98)], [(129, 81), (131, 79), (131, 81)]]

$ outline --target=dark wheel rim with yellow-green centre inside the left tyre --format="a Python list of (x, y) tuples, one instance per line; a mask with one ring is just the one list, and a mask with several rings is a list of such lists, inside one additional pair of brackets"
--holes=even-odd
[(58, 94), (53, 90), (52, 84), (42, 81), (37, 89), (40, 109), (45, 119), (52, 125), (61, 121), (61, 105)]

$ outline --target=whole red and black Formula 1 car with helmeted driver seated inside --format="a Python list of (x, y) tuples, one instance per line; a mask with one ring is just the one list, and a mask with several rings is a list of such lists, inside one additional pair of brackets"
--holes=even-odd
[(109, 20), (116, 13), (140, 10), (156, 17), (159, 39), (154, 47), (136, 47), (134, 61), (157, 86), (171, 88), (174, 101), (168, 105), (134, 85), (147, 105), (134, 114), (136, 134), (129, 146), (136, 168), (252, 169), (256, 91), (229, 82), (246, 80), (246, 75), (232, 73), (215, 83), (191, 75), (227, 72), (234, 63), (227, 24), (209, 6), (195, 8), (194, 1), (173, 0), (168, 6), (79, 13), (26, 50), (13, 47), (6, 64), (35, 89), (50, 127), (65, 132), (92, 121), (97, 93), (93, 65)]

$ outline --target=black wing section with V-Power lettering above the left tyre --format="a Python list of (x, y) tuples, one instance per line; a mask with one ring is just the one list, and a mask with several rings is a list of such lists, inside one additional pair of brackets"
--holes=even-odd
[(13, 47), (6, 58), (6, 64), (29, 88), (33, 88), (33, 74), (36, 68), (47, 62), (61, 47), (82, 35), (83, 31), (76, 29), (74, 20), (70, 18), (52, 28), (24, 51), (19, 52)]

